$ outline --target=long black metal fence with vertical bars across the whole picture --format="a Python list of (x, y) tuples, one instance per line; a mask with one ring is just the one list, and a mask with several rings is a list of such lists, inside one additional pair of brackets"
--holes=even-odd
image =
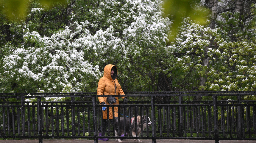
[[(97, 97), (105, 95), (0, 93), (0, 137), (38, 138), (39, 142), (52, 138), (94, 139), (94, 142), (99, 138), (152, 139), (153, 143), (157, 139), (256, 140), (256, 101), (242, 100), (255, 94), (256, 91), (126, 92), (127, 97), (150, 97), (150, 101), (99, 105)], [(187, 100), (194, 96), (207, 96), (211, 100)], [(217, 100), (220, 96), (236, 100)], [(65, 97), (66, 101), (45, 101), (54, 97)], [(76, 97), (86, 101), (75, 101)], [(177, 100), (157, 101), (159, 97)], [(26, 102), (27, 98), (34, 98), (35, 102)], [(108, 107), (117, 106), (118, 117), (125, 120), (146, 115), (153, 124), (135, 137), (116, 137), (108, 120), (110, 129), (106, 136), (98, 136), (102, 106), (107, 106), (107, 111)]]

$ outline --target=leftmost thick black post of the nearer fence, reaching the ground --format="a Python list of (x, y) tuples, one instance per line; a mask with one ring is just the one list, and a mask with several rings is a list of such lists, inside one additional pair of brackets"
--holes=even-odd
[(43, 120), (42, 120), (42, 107), (40, 106), (42, 104), (41, 102), (41, 97), (37, 97), (37, 120), (38, 120), (38, 142), (39, 143), (43, 143), (43, 138), (41, 137), (43, 135), (42, 132), (42, 124), (43, 124)]

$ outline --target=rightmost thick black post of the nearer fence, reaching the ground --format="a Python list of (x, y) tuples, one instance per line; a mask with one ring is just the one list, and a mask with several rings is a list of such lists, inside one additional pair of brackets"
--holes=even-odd
[(218, 143), (219, 131), (218, 131), (218, 107), (217, 107), (217, 95), (213, 95), (213, 120), (214, 120), (214, 138), (215, 143)]

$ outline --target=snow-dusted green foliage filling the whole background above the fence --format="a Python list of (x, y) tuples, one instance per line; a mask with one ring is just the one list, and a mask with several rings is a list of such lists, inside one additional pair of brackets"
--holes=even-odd
[[(124, 91), (256, 90), (255, 4), (219, 1), (211, 19), (209, 1), (172, 2), (32, 0), (21, 21), (1, 11), (0, 92), (96, 92), (107, 64)], [(163, 9), (174, 5), (187, 8)]]

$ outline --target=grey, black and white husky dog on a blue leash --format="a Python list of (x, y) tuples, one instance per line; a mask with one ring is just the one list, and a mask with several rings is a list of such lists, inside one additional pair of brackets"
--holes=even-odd
[[(118, 117), (115, 117), (115, 136), (118, 136)], [(125, 131), (127, 134), (130, 134), (130, 122), (131, 122), (131, 130), (132, 130), (132, 136), (135, 135), (135, 118), (132, 118), (130, 121), (129, 118), (126, 118), (125, 120)], [(150, 118), (146, 118), (146, 116), (142, 116), (142, 122), (143, 122), (143, 128), (141, 129), (141, 116), (137, 116), (137, 133), (138, 136), (140, 135), (141, 131), (143, 131), (147, 123), (149, 126), (151, 126)], [(124, 134), (124, 118), (120, 118), (120, 134)], [(142, 142), (139, 139), (134, 139), (134, 141)], [(122, 142), (120, 139), (115, 139), (115, 141)]]

